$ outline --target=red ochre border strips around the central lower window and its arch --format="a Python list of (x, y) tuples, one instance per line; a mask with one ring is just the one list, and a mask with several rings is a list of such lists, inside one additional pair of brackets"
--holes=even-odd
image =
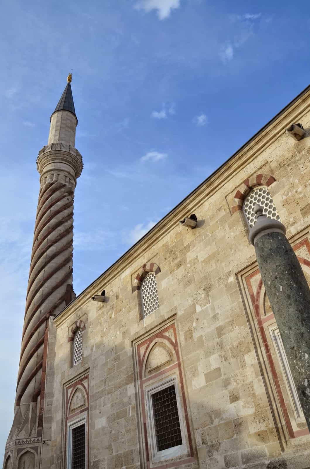
[[(173, 331), (174, 341), (168, 335), (165, 334), (169, 330)], [(151, 344), (154, 344), (155, 339), (160, 339), (160, 338), (162, 338), (164, 340), (167, 340), (170, 343), (171, 347), (173, 348), (173, 350), (176, 354), (177, 363), (169, 366), (168, 368), (165, 368), (162, 371), (159, 371), (158, 373), (155, 373), (150, 378), (144, 378), (143, 379), (143, 363), (145, 361), (145, 358), (148, 355), (148, 352), (150, 351)], [(146, 345), (146, 347), (145, 347), (145, 345)], [(145, 349), (143, 350), (143, 354), (141, 355), (141, 348), (142, 347), (145, 347)], [(180, 387), (181, 387), (181, 393), (182, 393), (182, 401), (183, 401), (183, 405), (184, 405), (185, 424), (186, 424), (186, 431), (187, 431), (187, 435), (188, 435), (188, 444), (189, 444), (191, 457), (187, 458), (187, 459), (180, 460), (180, 461), (175, 461), (173, 463), (166, 463), (166, 464), (163, 464), (162, 466), (156, 466), (156, 469), (166, 469), (166, 468), (170, 468), (170, 467), (172, 468), (172, 467), (176, 467), (176, 466), (180, 466), (180, 465), (183, 465), (183, 464), (189, 464), (191, 462), (194, 462), (192, 434), (191, 434), (191, 429), (190, 429), (189, 416), (188, 416), (188, 410), (187, 410), (187, 404), (186, 404), (186, 398), (185, 398), (185, 386), (184, 386), (184, 380), (183, 380), (183, 373), (182, 373), (182, 369), (181, 369), (181, 360), (180, 360), (179, 347), (178, 347), (178, 342), (177, 342), (176, 325), (175, 324), (168, 325), (167, 327), (163, 328), (161, 331), (155, 333), (154, 335), (152, 335), (148, 339), (141, 342), (137, 346), (137, 355), (138, 355), (138, 367), (139, 367), (138, 373), (139, 373), (139, 381), (140, 381), (139, 384), (140, 384), (142, 420), (143, 420), (142, 424), (143, 424), (143, 431), (144, 431), (144, 441), (145, 441), (145, 449), (146, 449), (148, 468), (150, 467), (150, 458), (149, 458), (149, 449), (148, 449), (147, 417), (146, 417), (143, 385), (144, 385), (144, 383), (148, 382), (149, 379), (156, 379), (156, 378), (162, 376), (163, 374), (167, 373), (168, 371), (171, 371), (174, 368), (177, 368), (178, 372), (179, 372)]]

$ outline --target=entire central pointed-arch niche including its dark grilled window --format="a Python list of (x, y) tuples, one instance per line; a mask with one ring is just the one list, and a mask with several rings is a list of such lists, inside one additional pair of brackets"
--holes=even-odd
[[(175, 319), (134, 341), (141, 467), (163, 469), (172, 461), (191, 467), (196, 461)], [(172, 439), (166, 438), (171, 425)]]

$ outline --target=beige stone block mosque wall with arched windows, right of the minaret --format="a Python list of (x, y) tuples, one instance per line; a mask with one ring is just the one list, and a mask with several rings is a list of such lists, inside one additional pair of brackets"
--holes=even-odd
[[(270, 192), (310, 282), (310, 136), (288, 136), (292, 122), (310, 128), (310, 91), (50, 320), (42, 468), (67, 467), (79, 421), (91, 469), (310, 465), (242, 210), (252, 189)], [(197, 227), (181, 226), (192, 213)], [(103, 290), (105, 302), (93, 301)]]

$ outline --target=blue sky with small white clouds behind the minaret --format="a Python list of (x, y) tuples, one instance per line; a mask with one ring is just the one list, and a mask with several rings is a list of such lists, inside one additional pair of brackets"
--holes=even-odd
[(0, 453), (13, 421), (37, 152), (73, 68), (84, 159), (80, 293), (302, 91), (309, 4), (4, 0), (0, 27)]

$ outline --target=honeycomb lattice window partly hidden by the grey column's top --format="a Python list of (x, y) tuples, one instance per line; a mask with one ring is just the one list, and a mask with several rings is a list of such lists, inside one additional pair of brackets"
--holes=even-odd
[(257, 215), (254, 213), (256, 204), (263, 207), (263, 214), (266, 215), (267, 218), (280, 220), (279, 213), (274, 205), (269, 190), (266, 186), (259, 186), (252, 189), (250, 194), (244, 199), (243, 211), (250, 228), (254, 226), (257, 219)]

